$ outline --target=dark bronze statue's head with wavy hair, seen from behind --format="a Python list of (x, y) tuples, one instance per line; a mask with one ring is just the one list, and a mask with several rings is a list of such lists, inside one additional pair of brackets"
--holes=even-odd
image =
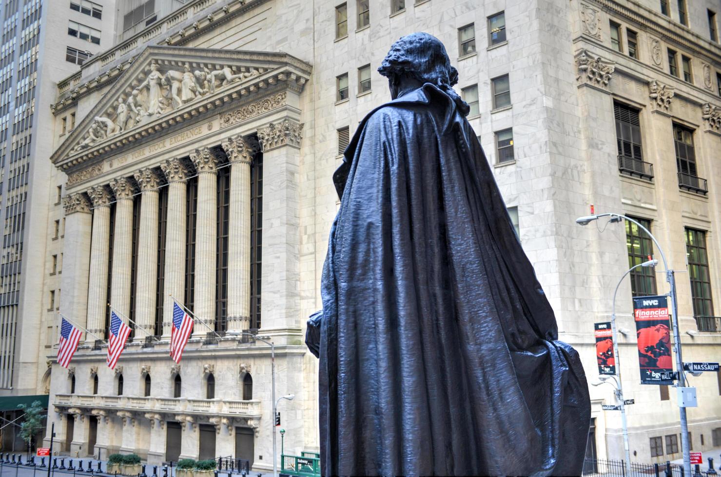
[(451, 66), (446, 47), (441, 40), (424, 32), (411, 33), (395, 42), (378, 72), (388, 78), (394, 98), (398, 86), (406, 81), (433, 83), (445, 86), (443, 89), (458, 83), (458, 71)]

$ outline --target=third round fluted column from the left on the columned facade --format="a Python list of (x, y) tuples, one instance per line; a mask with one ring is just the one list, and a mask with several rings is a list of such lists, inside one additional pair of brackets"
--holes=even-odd
[[(136, 266), (136, 312), (138, 327), (154, 335), (155, 299), (158, 289), (158, 186), (160, 178), (151, 168), (134, 174), (142, 191), (138, 265)], [(144, 333), (143, 333), (144, 335)]]

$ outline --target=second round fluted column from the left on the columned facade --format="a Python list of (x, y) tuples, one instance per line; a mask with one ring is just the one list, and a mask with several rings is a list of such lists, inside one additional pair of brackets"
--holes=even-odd
[(110, 183), (115, 192), (115, 231), (112, 240), (112, 281), (110, 304), (128, 317), (131, 313), (131, 272), (133, 258), (133, 183), (121, 177)]

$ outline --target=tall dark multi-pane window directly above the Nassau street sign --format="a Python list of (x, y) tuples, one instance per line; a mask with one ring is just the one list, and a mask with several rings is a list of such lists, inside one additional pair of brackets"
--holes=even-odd
[(694, 317), (701, 331), (717, 331), (714, 304), (711, 296), (709, 255), (706, 248), (706, 232), (686, 229), (686, 260), (689, 262), (691, 300)]

